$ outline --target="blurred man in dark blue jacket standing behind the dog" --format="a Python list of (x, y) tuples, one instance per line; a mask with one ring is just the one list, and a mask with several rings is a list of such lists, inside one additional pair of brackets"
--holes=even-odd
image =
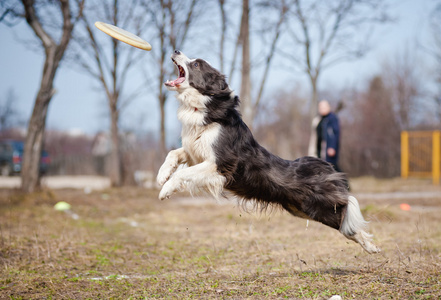
[(337, 116), (331, 111), (331, 106), (326, 100), (318, 104), (321, 119), (317, 125), (317, 156), (325, 159), (341, 172), (338, 167), (338, 153), (340, 146), (340, 125)]

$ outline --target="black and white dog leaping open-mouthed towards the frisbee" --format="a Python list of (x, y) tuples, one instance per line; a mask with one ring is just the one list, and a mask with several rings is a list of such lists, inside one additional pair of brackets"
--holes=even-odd
[[(239, 98), (224, 75), (177, 50), (171, 58), (179, 77), (165, 85), (178, 93), (182, 148), (170, 151), (159, 170), (161, 200), (184, 189), (206, 190), (214, 197), (226, 190), (241, 200), (264, 208), (281, 206), (296, 217), (335, 228), (368, 253), (380, 251), (363, 230), (366, 221), (342, 173), (318, 158), (289, 161), (268, 152), (242, 121)], [(187, 167), (177, 170), (183, 164)]]

